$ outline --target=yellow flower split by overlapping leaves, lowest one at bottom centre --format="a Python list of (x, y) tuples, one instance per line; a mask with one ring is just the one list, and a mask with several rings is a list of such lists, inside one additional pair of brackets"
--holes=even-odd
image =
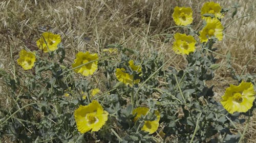
[[(149, 110), (150, 109), (147, 108), (147, 107), (138, 107), (138, 108), (134, 109), (133, 110), (133, 115), (135, 115), (137, 113), (136, 117), (134, 118), (134, 122), (136, 122), (141, 117), (141, 115), (146, 116), (147, 112)], [(154, 112), (154, 114), (157, 117), (157, 119), (154, 120), (154, 121), (145, 121), (141, 130), (147, 131), (147, 132), (149, 132), (149, 134), (152, 134), (155, 131), (157, 131), (158, 126), (159, 126), (160, 113), (159, 113), (159, 111), (156, 110)]]

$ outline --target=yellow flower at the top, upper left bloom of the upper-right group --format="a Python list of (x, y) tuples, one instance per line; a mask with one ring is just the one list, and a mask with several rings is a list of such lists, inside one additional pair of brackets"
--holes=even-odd
[(193, 11), (191, 8), (175, 7), (173, 18), (177, 25), (188, 25), (193, 21)]

